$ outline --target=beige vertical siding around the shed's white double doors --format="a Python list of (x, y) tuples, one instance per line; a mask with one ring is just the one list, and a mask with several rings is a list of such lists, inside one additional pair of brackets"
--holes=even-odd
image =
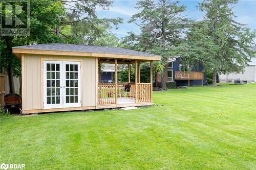
[(81, 61), (81, 100), (82, 107), (96, 106), (95, 87), (96, 87), (96, 69), (95, 58), (93, 57), (72, 57), (72, 56), (48, 56), (48, 55), (25, 55), (24, 57), (24, 110), (43, 109), (41, 91), (41, 66), (43, 60), (77, 60)]

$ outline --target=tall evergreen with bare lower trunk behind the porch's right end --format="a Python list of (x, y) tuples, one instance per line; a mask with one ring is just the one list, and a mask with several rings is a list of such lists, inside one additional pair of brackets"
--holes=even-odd
[[(182, 15), (185, 6), (179, 6), (178, 3), (178, 1), (166, 0), (139, 1), (136, 8), (142, 10), (133, 15), (130, 22), (135, 22), (142, 33), (140, 35), (130, 33), (124, 42), (134, 45), (139, 51), (162, 56), (162, 65), (166, 65), (167, 58), (174, 56), (172, 47), (180, 44), (182, 34), (186, 33), (191, 21)], [(162, 71), (161, 86), (166, 90), (165, 74), (167, 74), (166, 70)]]

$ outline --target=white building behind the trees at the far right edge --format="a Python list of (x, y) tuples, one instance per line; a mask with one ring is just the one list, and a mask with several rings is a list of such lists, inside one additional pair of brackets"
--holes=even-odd
[[(253, 48), (256, 50), (256, 47)], [(256, 82), (256, 58), (252, 58), (248, 66), (245, 66), (244, 73), (239, 74), (221, 74), (220, 83), (251, 83)]]

